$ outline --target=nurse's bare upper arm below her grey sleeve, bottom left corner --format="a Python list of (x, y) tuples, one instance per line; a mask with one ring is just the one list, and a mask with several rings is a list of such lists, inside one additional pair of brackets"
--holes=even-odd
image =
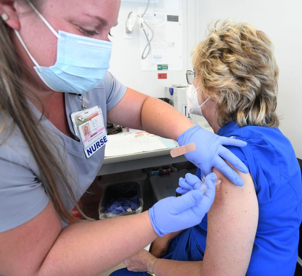
[(0, 233), (0, 274), (37, 275), (61, 230), (61, 220), (49, 202), (30, 221)]

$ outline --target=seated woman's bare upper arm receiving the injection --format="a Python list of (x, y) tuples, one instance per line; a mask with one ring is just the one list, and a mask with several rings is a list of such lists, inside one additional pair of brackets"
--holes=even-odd
[(249, 266), (258, 225), (258, 200), (251, 175), (235, 171), (243, 179), (243, 187), (213, 169), (222, 182), (216, 186), (208, 212), (204, 275), (245, 275)]

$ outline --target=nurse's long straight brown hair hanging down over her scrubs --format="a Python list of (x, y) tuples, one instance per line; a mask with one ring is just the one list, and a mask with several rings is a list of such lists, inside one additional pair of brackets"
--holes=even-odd
[[(32, 2), (38, 4), (39, 1)], [(41, 118), (36, 118), (27, 102), (24, 90), (28, 87), (21, 80), (21, 72), (26, 72), (26, 68), (20, 64), (20, 59), (11, 40), (12, 35), (12, 29), (0, 19), (0, 111), (5, 114), (3, 124), (0, 126), (0, 133), (4, 130), (6, 119), (11, 117), (14, 121), (12, 127), (20, 129), (39, 168), (41, 174), (39, 181), (43, 183), (54, 209), (62, 220), (65, 222), (80, 221), (65, 208), (60, 188), (63, 188), (81, 216), (86, 220), (91, 220), (77, 204), (72, 186), (69, 183), (71, 177), (64, 166), (59, 150), (52, 140), (45, 135), (48, 132), (41, 124), (43, 112)], [(10, 133), (6, 133), (6, 139), (9, 138)], [(2, 139), (0, 145), (4, 142), (5, 139)], [(54, 152), (53, 149), (55, 149)]]

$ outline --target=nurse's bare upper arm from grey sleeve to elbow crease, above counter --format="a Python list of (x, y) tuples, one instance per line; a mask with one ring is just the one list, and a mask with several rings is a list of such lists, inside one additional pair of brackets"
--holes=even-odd
[(123, 127), (142, 129), (142, 108), (148, 97), (127, 87), (124, 97), (107, 112), (107, 121)]

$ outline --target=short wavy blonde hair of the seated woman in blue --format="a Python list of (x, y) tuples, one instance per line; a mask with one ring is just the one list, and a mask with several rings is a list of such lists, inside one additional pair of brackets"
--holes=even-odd
[(199, 91), (217, 101), (218, 123), (278, 127), (278, 67), (270, 39), (248, 23), (217, 21), (193, 49)]

